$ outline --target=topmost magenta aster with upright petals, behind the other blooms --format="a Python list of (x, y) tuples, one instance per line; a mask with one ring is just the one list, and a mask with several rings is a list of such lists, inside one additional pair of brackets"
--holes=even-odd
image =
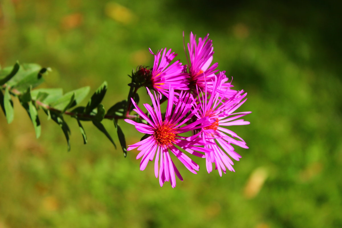
[[(209, 93), (212, 93), (212, 83), (216, 77), (215, 73), (219, 71), (218, 69), (216, 69), (218, 67), (218, 63), (214, 63), (211, 65), (211, 62), (213, 60), (214, 48), (212, 46), (212, 40), (208, 39), (208, 37), (209, 33), (205, 38), (199, 38), (197, 43), (196, 35), (194, 35), (192, 32), (190, 33), (190, 43), (188, 43), (190, 56), (190, 62), (188, 60), (190, 75), (189, 88), (193, 92), (196, 91), (196, 86), (198, 86), (198, 88), (200, 88), (202, 91), (206, 88)], [(224, 75), (224, 72), (225, 71), (222, 71), (222, 75)], [(226, 98), (229, 98), (236, 93), (235, 90), (230, 89), (232, 85), (228, 82), (228, 78), (225, 75), (221, 81), (222, 85), (220, 89), (216, 89), (216, 91), (220, 93), (221, 96), (224, 95)]]

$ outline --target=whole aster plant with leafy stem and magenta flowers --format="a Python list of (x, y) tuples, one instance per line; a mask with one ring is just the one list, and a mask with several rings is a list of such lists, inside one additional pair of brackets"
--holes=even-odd
[[(176, 164), (181, 163), (197, 174), (199, 165), (193, 158), (205, 159), (208, 173), (214, 166), (222, 176), (227, 170), (234, 171), (233, 160), (241, 158), (234, 147), (248, 148), (241, 137), (229, 130), (232, 125), (249, 124), (241, 118), (251, 112), (237, 111), (246, 102), (247, 93), (233, 90), (232, 78), (228, 79), (225, 71), (218, 68), (218, 63), (212, 64), (214, 51), (209, 34), (196, 40), (196, 35), (191, 32), (189, 43), (185, 45), (184, 41), (184, 51), (187, 65), (175, 60), (177, 54), (171, 49), (164, 48), (156, 54), (149, 49), (154, 56), (152, 67), (138, 66), (133, 70), (129, 75), (127, 99), (107, 111), (101, 104), (107, 82), (94, 92), (87, 105), (80, 106), (90, 91), (89, 86), (65, 94), (62, 89), (36, 89), (51, 70), (37, 64), (16, 63), (13, 67), (0, 69), (0, 105), (11, 123), (14, 118), (12, 98), (17, 97), (32, 121), (37, 138), (41, 134), (38, 111), (43, 110), (48, 119), (62, 129), (68, 150), (70, 129), (65, 116), (77, 121), (84, 144), (88, 139), (82, 123), (91, 121), (116, 148), (102, 124), (104, 119), (112, 120), (124, 156), (127, 151), (139, 151), (136, 159), (141, 159), (140, 170), (145, 170), (148, 162), (154, 161), (160, 186), (170, 182), (174, 188), (176, 176), (183, 181), (176, 160), (179, 161)], [(150, 98), (142, 106), (139, 105), (138, 91), (147, 92)], [(165, 110), (161, 108), (164, 102)], [(128, 148), (120, 119), (144, 134), (139, 142), (128, 145)]]

